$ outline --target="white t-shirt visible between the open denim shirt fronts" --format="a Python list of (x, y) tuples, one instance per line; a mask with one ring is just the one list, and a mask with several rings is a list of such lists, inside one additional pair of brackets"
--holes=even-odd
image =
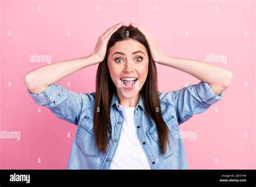
[(110, 169), (152, 169), (140, 145), (133, 122), (135, 107), (120, 107), (124, 115), (124, 124)]

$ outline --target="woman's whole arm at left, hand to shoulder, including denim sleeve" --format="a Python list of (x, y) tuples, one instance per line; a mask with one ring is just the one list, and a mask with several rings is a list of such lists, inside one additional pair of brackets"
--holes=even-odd
[(73, 92), (55, 83), (82, 68), (103, 62), (107, 42), (122, 25), (123, 23), (114, 25), (100, 35), (91, 55), (52, 63), (27, 73), (24, 82), (35, 103), (49, 108), (58, 118), (78, 125), (83, 111), (92, 106), (95, 99), (93, 93)]

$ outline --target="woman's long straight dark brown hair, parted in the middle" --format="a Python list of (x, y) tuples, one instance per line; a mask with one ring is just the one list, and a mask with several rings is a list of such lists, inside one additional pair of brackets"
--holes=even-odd
[[(128, 33), (128, 34), (127, 34)], [(152, 60), (150, 48), (144, 35), (132, 26), (122, 26), (114, 32), (107, 44), (107, 51), (105, 59), (99, 63), (96, 75), (96, 93), (95, 106), (93, 114), (93, 128), (95, 130), (95, 142), (100, 151), (106, 153), (106, 146), (109, 141), (108, 133), (111, 136), (110, 124), (110, 104), (113, 93), (116, 92), (116, 86), (111, 80), (109, 68), (107, 66), (107, 58), (109, 56), (109, 49), (116, 44), (117, 41), (126, 39), (135, 39), (143, 44), (149, 56), (149, 69), (146, 81), (139, 91), (142, 96), (144, 109), (147, 117), (154, 120), (159, 136), (161, 153), (166, 151), (166, 141), (170, 142), (168, 138), (167, 125), (163, 119), (160, 109), (158, 87), (157, 87), (157, 67)]]

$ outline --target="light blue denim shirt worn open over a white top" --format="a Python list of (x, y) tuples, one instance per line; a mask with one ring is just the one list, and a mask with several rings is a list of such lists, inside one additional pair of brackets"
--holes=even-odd
[[(31, 93), (36, 104), (48, 107), (55, 116), (77, 125), (69, 156), (68, 169), (109, 169), (116, 153), (120, 132), (124, 123), (123, 112), (116, 93), (110, 105), (111, 133), (107, 152), (99, 152), (95, 145), (93, 130), (93, 109), (95, 92), (77, 93), (62, 85), (51, 84), (38, 95)], [(161, 154), (156, 124), (145, 114), (142, 97), (134, 111), (134, 125), (138, 139), (152, 169), (188, 169), (183, 140), (179, 136), (179, 125), (194, 114), (202, 113), (212, 104), (222, 99), (224, 93), (216, 95), (207, 82), (189, 85), (180, 90), (162, 93), (158, 91), (163, 119), (169, 128), (170, 146)]]

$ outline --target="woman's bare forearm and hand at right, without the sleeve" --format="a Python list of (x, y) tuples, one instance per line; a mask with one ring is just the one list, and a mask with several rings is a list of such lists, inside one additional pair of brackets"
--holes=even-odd
[(184, 71), (203, 82), (207, 82), (216, 95), (220, 95), (231, 83), (233, 73), (207, 62), (170, 57), (161, 52), (156, 38), (145, 28), (135, 23), (131, 26), (143, 33), (150, 47), (154, 62)]

